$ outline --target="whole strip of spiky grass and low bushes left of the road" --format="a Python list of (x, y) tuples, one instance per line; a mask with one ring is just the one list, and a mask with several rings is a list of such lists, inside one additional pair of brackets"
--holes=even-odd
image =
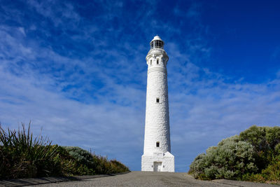
[(129, 169), (117, 160), (108, 160), (79, 147), (52, 145), (43, 136), (34, 137), (22, 124), (18, 130), (0, 125), (0, 179), (43, 176), (113, 174)]

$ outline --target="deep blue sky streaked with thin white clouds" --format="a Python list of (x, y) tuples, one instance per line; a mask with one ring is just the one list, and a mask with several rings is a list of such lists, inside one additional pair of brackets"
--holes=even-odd
[(165, 41), (176, 172), (280, 125), (280, 1), (0, 0), (0, 122), (141, 169), (146, 55)]

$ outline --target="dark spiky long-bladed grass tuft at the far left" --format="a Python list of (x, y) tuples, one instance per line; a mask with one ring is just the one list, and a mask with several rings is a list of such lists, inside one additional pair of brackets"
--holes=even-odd
[(59, 175), (56, 150), (48, 139), (34, 137), (30, 124), (7, 132), (0, 126), (0, 179)]

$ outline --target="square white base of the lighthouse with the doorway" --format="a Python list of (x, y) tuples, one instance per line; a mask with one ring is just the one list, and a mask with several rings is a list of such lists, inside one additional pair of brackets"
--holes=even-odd
[(175, 172), (174, 155), (169, 153), (153, 153), (142, 155), (141, 171), (143, 172)]

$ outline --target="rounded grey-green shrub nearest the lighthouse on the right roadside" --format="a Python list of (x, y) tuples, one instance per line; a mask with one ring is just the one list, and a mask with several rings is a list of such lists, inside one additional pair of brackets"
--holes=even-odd
[(198, 179), (238, 179), (246, 172), (255, 172), (253, 146), (238, 136), (223, 139), (207, 149), (190, 165), (190, 173)]

